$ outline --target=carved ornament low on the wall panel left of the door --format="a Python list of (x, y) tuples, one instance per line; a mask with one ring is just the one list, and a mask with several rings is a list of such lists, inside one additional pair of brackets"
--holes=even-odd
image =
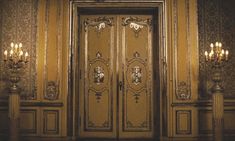
[(58, 99), (58, 86), (56, 82), (49, 81), (47, 83), (46, 94), (44, 96), (47, 100), (57, 100)]

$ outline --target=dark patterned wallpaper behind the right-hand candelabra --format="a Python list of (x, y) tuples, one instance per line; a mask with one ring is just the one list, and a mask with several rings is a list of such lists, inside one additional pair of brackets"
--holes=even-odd
[(227, 99), (235, 98), (235, 1), (198, 0), (199, 24), (199, 75), (200, 98), (210, 97), (212, 86), (211, 67), (205, 63), (204, 51), (209, 50), (211, 42), (221, 41), (228, 49), (229, 61), (224, 64), (222, 85)]

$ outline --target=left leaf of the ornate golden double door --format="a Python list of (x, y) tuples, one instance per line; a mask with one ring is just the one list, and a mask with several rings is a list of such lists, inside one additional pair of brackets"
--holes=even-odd
[[(113, 137), (114, 19), (111, 16), (82, 16), (80, 116), (81, 136)], [(84, 77), (82, 77), (84, 74)], [(95, 134), (94, 134), (95, 133)]]

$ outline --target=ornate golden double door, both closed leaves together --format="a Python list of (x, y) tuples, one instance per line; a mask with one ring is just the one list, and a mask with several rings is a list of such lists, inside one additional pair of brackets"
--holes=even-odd
[(79, 23), (80, 137), (153, 137), (152, 16)]

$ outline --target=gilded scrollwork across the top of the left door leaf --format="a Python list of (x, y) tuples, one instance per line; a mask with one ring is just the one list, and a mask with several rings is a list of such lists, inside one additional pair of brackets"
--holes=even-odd
[(94, 27), (97, 33), (100, 33), (102, 29), (106, 27), (106, 25), (112, 26), (113, 25), (113, 18), (108, 17), (98, 17), (96, 19), (85, 19), (84, 21), (84, 30), (85, 32), (88, 30), (88, 27)]

